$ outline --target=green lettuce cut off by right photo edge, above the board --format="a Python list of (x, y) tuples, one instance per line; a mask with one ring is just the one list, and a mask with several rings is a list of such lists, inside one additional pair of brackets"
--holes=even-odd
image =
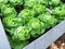
[(55, 17), (58, 19), (58, 22), (65, 20), (65, 4), (53, 9), (53, 14), (56, 15)]

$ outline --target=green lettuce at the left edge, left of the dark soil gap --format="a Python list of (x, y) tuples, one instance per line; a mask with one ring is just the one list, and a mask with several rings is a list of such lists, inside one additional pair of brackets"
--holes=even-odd
[(3, 13), (4, 16), (9, 16), (9, 15), (16, 16), (17, 14), (14, 8), (8, 7), (5, 4), (1, 7), (1, 12)]

